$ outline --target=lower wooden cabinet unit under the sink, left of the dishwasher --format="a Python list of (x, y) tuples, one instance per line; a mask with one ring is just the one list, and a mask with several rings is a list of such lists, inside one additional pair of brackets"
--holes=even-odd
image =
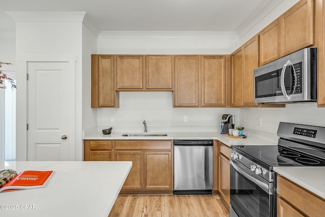
[(173, 193), (171, 140), (84, 140), (84, 161), (132, 161), (121, 193)]

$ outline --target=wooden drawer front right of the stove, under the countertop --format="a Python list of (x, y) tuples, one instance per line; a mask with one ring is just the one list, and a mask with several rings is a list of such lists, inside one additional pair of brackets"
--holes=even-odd
[(277, 193), (307, 216), (323, 216), (325, 200), (278, 175)]

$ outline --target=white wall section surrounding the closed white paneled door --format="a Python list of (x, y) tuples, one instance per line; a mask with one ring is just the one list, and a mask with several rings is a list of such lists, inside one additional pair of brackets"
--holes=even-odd
[[(19, 12), (17, 12), (19, 13)], [(23, 13), (23, 12), (22, 12)], [(32, 14), (32, 13), (30, 13)], [(30, 15), (29, 14), (29, 15)], [(15, 13), (14, 13), (15, 15)], [(29, 16), (27, 13), (27, 17)], [(46, 14), (42, 14), (42, 16)], [(39, 18), (39, 17), (37, 17)], [(75, 141), (76, 152), (82, 152), (82, 22), (75, 21), (16, 21), (16, 59), (22, 55), (75, 55)], [(26, 160), (26, 75), (25, 66), (17, 68), (17, 160)], [(72, 141), (72, 140), (71, 140)], [(75, 160), (82, 160), (76, 156)]]

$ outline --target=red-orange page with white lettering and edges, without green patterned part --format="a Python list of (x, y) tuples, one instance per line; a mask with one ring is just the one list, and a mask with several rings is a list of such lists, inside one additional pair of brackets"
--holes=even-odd
[(54, 171), (23, 171), (0, 188), (0, 192), (47, 187)]

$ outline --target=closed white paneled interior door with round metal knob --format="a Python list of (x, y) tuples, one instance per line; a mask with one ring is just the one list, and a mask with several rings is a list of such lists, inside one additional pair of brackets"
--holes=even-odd
[(27, 62), (27, 74), (27, 160), (68, 161), (69, 62)]

